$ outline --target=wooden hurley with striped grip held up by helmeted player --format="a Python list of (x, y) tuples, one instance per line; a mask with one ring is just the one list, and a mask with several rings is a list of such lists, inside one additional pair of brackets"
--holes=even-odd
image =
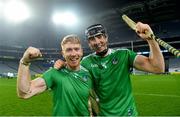
[[(122, 15), (122, 19), (129, 25), (129, 27), (131, 27), (133, 30), (136, 30), (136, 23), (133, 20), (131, 20), (127, 15)], [(153, 33), (146, 33), (145, 32), (145, 34), (148, 35), (150, 38), (156, 40), (159, 45), (161, 45), (162, 47), (167, 49), (169, 52), (174, 54), (176, 57), (180, 57), (180, 51), (179, 50), (175, 49), (174, 47), (172, 47), (171, 45), (169, 45), (168, 43), (166, 43), (162, 39), (156, 37)]]

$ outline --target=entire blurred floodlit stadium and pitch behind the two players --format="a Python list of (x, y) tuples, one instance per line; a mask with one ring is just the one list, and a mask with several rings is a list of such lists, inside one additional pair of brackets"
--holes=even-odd
[[(18, 64), (27, 47), (37, 47), (43, 54), (30, 67), (36, 77), (61, 58), (59, 43), (67, 34), (79, 35), (84, 55), (91, 53), (84, 30), (101, 23), (107, 28), (109, 47), (148, 56), (147, 43), (123, 22), (126, 14), (150, 24), (157, 37), (180, 50), (179, 11), (178, 0), (0, 0), (0, 115), (51, 115), (49, 92), (27, 101), (16, 96)], [(63, 12), (71, 17), (62, 18)], [(165, 74), (132, 72), (140, 115), (180, 115), (180, 58), (161, 50)]]

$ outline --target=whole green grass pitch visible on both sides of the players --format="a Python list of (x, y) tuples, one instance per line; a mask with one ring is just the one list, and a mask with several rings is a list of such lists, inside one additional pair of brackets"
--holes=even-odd
[[(132, 75), (132, 87), (140, 116), (180, 115), (180, 75)], [(16, 79), (0, 79), (0, 116), (50, 115), (50, 91), (23, 100), (16, 95)]]

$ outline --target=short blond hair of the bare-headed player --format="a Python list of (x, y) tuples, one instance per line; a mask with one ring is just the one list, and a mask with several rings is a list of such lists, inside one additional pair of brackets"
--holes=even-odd
[(80, 44), (81, 45), (80, 38), (77, 35), (71, 34), (71, 35), (65, 36), (62, 39), (62, 41), (61, 41), (61, 48), (63, 49), (63, 45), (65, 45), (68, 42), (71, 42), (73, 44)]

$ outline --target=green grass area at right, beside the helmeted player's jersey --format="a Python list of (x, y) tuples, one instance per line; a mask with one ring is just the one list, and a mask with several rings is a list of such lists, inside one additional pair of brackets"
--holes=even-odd
[(132, 76), (139, 115), (179, 116), (180, 75)]

